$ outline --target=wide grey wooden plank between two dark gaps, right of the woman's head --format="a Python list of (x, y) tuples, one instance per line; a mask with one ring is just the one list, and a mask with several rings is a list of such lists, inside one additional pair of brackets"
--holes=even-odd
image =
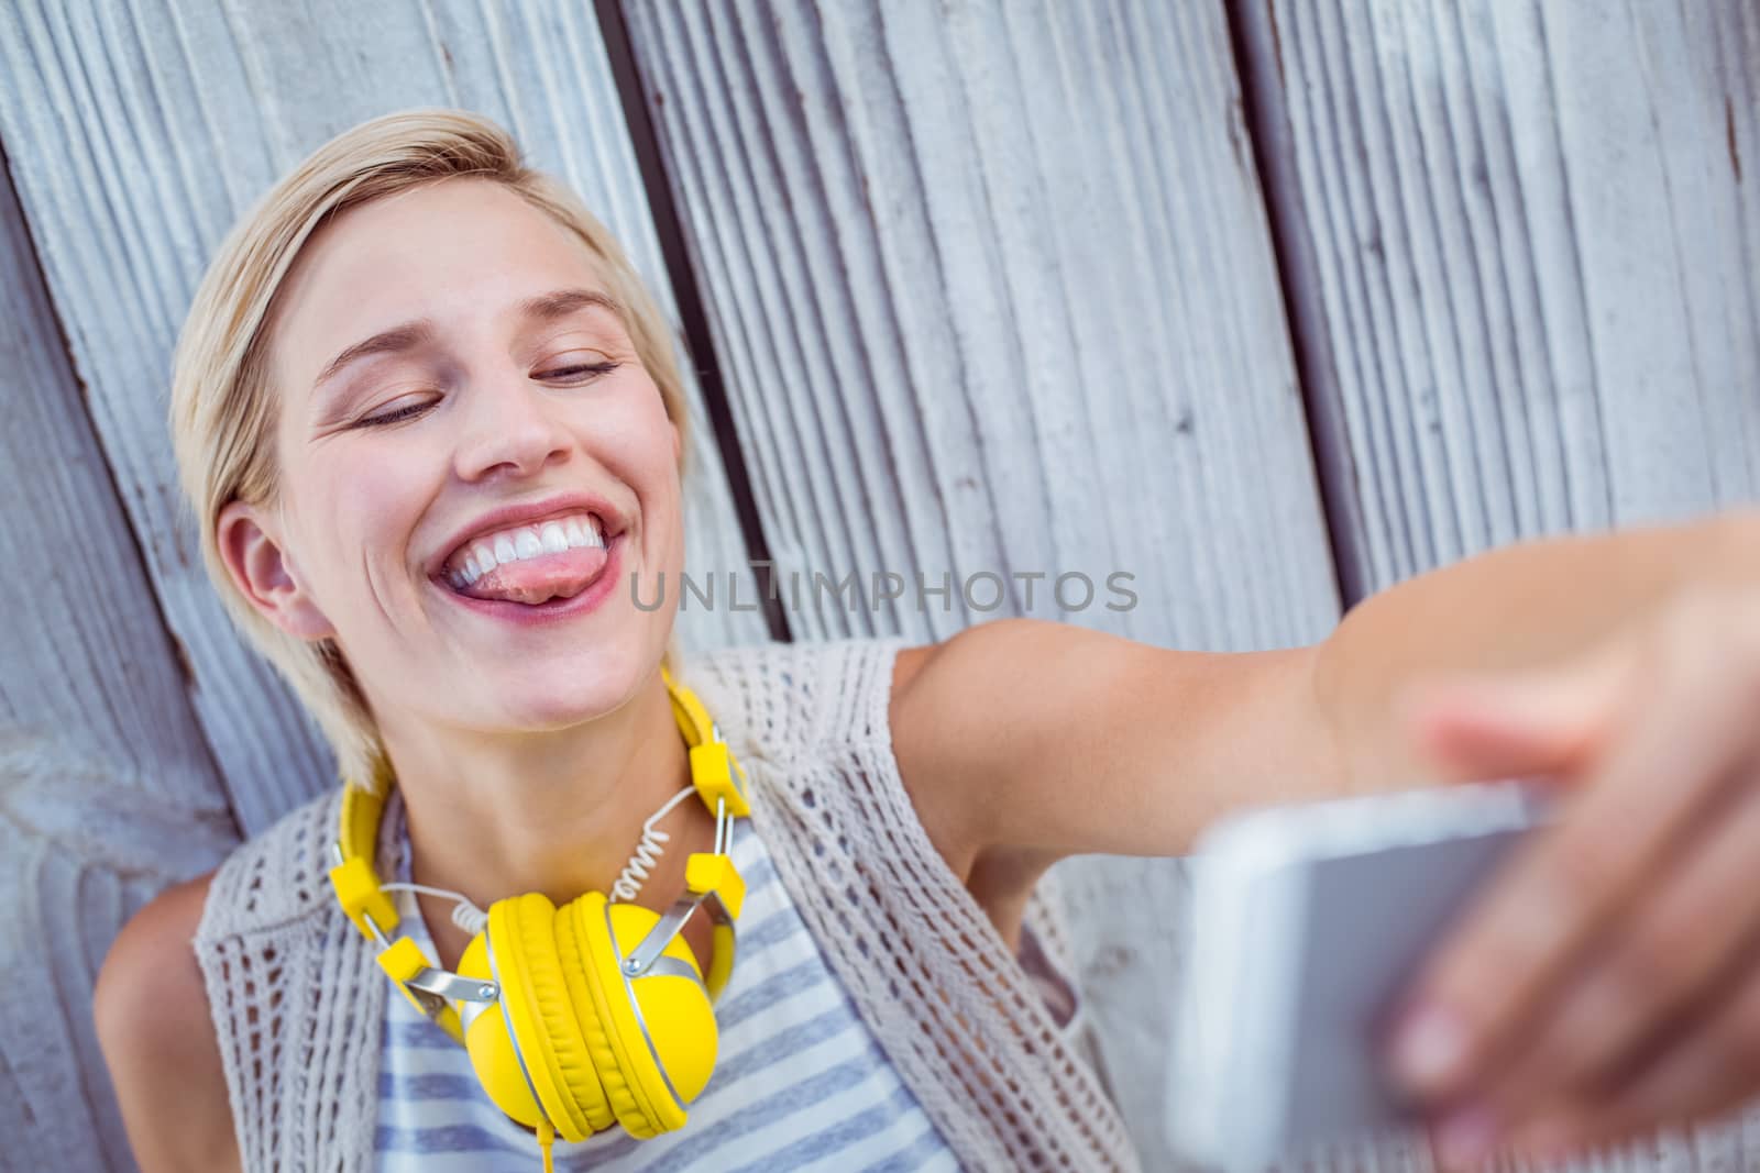
[[(1227, 26), (1190, 4), (625, 5), (797, 638), (1035, 614), (1193, 649), (1338, 598)], [(1104, 79), (1104, 84), (1102, 84)], [(1112, 612), (1105, 577), (1135, 575)], [(940, 586), (994, 573), (917, 605)], [(1060, 573), (1089, 575), (1086, 610)], [(1016, 573), (1045, 575), (1026, 598)], [(1077, 586), (1070, 580), (1067, 587)], [(1067, 600), (1077, 601), (1067, 589)], [(1146, 1168), (1172, 860), (1077, 860), (1086, 990)]]

